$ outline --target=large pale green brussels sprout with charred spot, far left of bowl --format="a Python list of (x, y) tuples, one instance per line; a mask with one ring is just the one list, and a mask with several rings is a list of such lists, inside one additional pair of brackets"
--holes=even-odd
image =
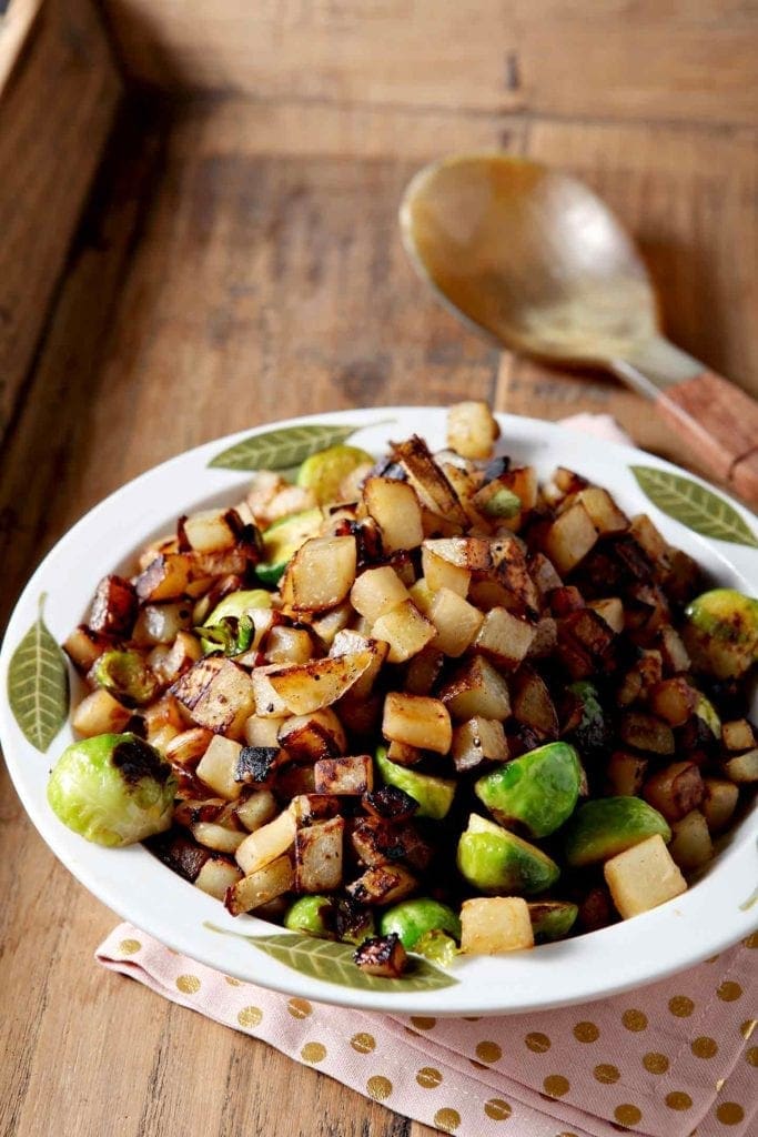
[(64, 750), (48, 802), (89, 841), (133, 845), (169, 828), (176, 786), (169, 763), (136, 735), (97, 735)]

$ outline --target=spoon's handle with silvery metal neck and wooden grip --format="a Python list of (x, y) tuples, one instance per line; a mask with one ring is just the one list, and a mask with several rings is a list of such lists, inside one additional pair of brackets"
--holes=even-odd
[(644, 341), (613, 371), (652, 399), (698, 460), (758, 508), (758, 402), (663, 335)]

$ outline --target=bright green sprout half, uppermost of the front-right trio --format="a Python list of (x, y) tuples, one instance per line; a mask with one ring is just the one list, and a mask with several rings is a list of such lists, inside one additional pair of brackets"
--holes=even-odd
[(574, 747), (548, 742), (491, 770), (474, 791), (501, 824), (519, 824), (531, 837), (547, 837), (574, 812), (581, 785)]

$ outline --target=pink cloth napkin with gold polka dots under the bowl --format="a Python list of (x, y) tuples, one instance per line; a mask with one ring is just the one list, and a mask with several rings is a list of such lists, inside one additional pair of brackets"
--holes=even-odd
[(460, 1137), (750, 1137), (758, 936), (665, 982), (502, 1018), (367, 1014), (219, 974), (123, 924), (97, 958)]

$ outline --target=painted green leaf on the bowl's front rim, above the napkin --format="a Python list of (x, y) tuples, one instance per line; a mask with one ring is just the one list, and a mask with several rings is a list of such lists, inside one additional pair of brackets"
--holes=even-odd
[(441, 987), (452, 987), (458, 982), (452, 976), (416, 956), (411, 956), (411, 968), (402, 979), (382, 979), (380, 976), (368, 976), (356, 966), (352, 962), (353, 948), (349, 944), (335, 944), (332, 940), (298, 936), (294, 932), (244, 936), (209, 923), (206, 923), (206, 927), (227, 936), (247, 939), (249, 944), (270, 955), (278, 963), (284, 963), (288, 968), (326, 984), (399, 995), (409, 990), (439, 990)]

